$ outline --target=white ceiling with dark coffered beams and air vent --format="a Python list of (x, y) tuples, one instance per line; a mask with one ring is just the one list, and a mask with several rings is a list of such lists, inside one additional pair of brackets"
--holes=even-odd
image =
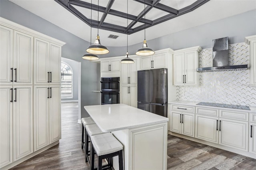
[[(102, 45), (126, 46), (186, 30), (256, 9), (256, 0), (10, 0), (60, 28), (92, 43), (99, 36)], [(99, 19), (98, 19), (99, 18)], [(146, 23), (144, 25), (144, 22)], [(113, 35), (113, 36), (110, 36)], [(108, 37), (117, 37), (108, 38)], [(148, 44), (150, 45), (150, 44)]]

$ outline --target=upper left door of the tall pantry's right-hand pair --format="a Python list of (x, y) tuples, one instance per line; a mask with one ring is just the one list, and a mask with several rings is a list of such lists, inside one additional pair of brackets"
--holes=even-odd
[(34, 39), (34, 84), (50, 83), (50, 43)]

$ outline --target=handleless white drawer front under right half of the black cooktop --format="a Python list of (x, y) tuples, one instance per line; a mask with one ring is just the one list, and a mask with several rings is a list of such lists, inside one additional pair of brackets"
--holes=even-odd
[(220, 117), (238, 121), (248, 121), (248, 115), (247, 112), (220, 110)]

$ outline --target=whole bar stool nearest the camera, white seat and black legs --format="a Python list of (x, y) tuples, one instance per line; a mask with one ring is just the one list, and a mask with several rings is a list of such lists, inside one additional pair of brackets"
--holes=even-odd
[[(112, 133), (104, 133), (91, 136), (91, 153), (96, 152), (98, 155), (98, 170), (102, 170), (102, 160), (106, 158), (119, 158), (119, 170), (123, 170), (123, 145), (112, 135)], [(91, 156), (90, 169), (94, 170), (94, 155)], [(113, 161), (108, 161), (109, 168), (113, 165)]]

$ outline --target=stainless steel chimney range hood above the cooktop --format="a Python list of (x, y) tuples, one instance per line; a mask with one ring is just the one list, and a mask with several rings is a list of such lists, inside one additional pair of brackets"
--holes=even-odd
[(197, 68), (198, 72), (246, 70), (246, 65), (229, 65), (228, 37), (212, 40), (213, 67)]

